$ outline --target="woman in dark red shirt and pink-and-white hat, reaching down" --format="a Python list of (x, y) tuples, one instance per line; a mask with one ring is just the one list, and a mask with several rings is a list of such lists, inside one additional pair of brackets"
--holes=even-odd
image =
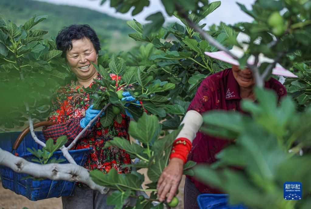
[[(224, 57), (223, 54), (221, 56)], [(256, 100), (253, 93), (255, 80), (252, 72), (248, 68), (240, 70), (236, 61), (231, 62), (228, 59), (223, 61), (233, 64), (232, 68), (205, 78), (188, 107), (182, 122), (184, 126), (174, 141), (169, 164), (163, 170), (157, 184), (160, 201), (163, 201), (168, 194), (167, 202), (170, 202), (175, 195), (182, 177), (183, 165), (187, 160), (195, 161), (197, 164), (214, 163), (216, 161), (215, 155), (231, 143), (230, 140), (219, 139), (201, 133), (199, 130), (203, 123), (201, 114), (217, 109), (241, 111), (239, 106), (241, 99)], [(290, 72), (284, 70), (282, 70), (283, 73), (285, 72), (289, 76), (295, 77), (295, 75), (291, 75)], [(286, 96), (285, 87), (274, 78), (265, 82), (264, 86), (274, 90), (279, 99)], [(184, 208), (199, 208), (196, 200), (201, 193), (221, 193), (221, 191), (202, 184), (192, 176), (186, 176)]]

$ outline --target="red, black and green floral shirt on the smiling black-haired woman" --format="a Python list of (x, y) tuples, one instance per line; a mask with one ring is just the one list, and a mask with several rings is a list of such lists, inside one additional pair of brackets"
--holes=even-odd
[[(117, 75), (114, 74), (110, 74), (110, 77), (112, 80), (117, 79)], [(97, 75), (96, 79), (102, 79), (100, 74)], [(121, 79), (121, 77), (119, 76), (118, 79)], [(93, 84), (95, 82), (91, 85)], [(106, 91), (106, 88), (100, 87), (100, 91)], [(57, 124), (43, 128), (45, 139), (52, 138), (56, 140), (58, 137), (66, 135), (68, 143), (65, 146), (68, 146), (83, 129), (80, 126), (80, 120), (84, 118), (90, 102), (90, 93), (76, 86), (73, 80), (67, 86), (58, 89), (53, 94), (48, 117), (48, 121)], [(76, 147), (73, 148), (92, 148), (84, 165), (86, 169), (98, 169), (107, 173), (113, 167), (121, 174), (131, 171), (130, 167), (122, 167), (122, 165), (131, 164), (128, 153), (115, 146), (104, 149), (105, 142), (115, 136), (129, 140), (128, 126), (130, 118), (122, 113), (120, 114), (123, 117), (121, 124), (114, 121), (112, 125), (106, 128), (101, 126), (100, 119), (98, 119), (95, 125), (82, 135)]]

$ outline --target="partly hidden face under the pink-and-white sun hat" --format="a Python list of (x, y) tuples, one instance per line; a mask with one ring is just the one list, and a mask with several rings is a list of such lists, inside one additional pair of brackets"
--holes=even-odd
[(232, 72), (240, 87), (253, 88), (255, 80), (252, 72), (248, 68), (240, 70), (239, 66), (232, 65)]

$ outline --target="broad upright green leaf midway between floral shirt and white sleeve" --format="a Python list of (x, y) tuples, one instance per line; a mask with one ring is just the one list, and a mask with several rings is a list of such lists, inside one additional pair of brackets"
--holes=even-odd
[(128, 133), (140, 142), (149, 144), (158, 139), (161, 131), (161, 124), (156, 116), (147, 116), (146, 112), (137, 122), (132, 121)]

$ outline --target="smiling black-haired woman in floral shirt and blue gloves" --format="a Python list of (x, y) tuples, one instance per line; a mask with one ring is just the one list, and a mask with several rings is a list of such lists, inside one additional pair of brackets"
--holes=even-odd
[[(52, 138), (53, 140), (66, 135), (68, 143), (65, 146), (67, 146), (100, 112), (90, 105), (90, 93), (81, 88), (96, 85), (93, 79), (103, 79), (91, 64), (91, 62), (97, 64), (100, 43), (95, 31), (89, 25), (70, 25), (60, 31), (56, 38), (56, 45), (58, 50), (63, 51), (62, 56), (66, 59), (67, 65), (76, 75), (77, 80), (72, 80), (67, 86), (61, 87), (52, 96), (48, 121), (52, 121), (56, 125), (44, 127), (43, 133), (45, 139)], [(114, 74), (110, 74), (110, 77), (112, 80), (117, 79)], [(121, 76), (118, 79), (120, 80)], [(121, 88), (119, 87), (119, 89)], [(104, 87), (98, 89), (101, 92), (106, 90)], [(75, 149), (92, 148), (84, 165), (86, 169), (100, 170), (103, 173), (108, 173), (110, 169), (115, 169), (118, 173), (130, 172), (130, 167), (123, 167), (123, 165), (131, 163), (129, 155), (125, 151), (117, 147), (104, 149), (105, 142), (115, 136), (129, 140), (130, 119), (120, 112), (118, 114), (122, 117), (121, 123), (114, 122), (103, 128), (100, 119), (97, 119), (91, 128), (81, 136)], [(114, 207), (106, 204), (106, 195), (81, 183), (77, 183), (74, 196), (62, 197), (62, 203), (63, 208), (66, 209), (109, 209)]]

